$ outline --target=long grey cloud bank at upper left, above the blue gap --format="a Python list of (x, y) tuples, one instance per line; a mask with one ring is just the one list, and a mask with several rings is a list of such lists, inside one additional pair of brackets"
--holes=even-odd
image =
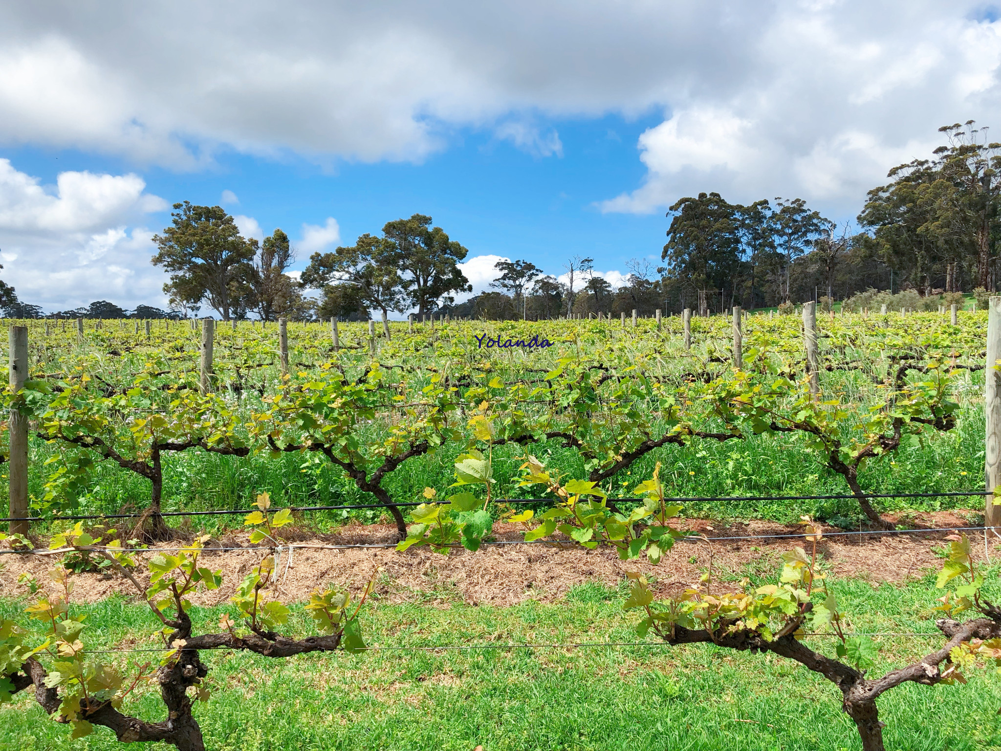
[[(250, 0), (239, 14), (184, 0), (111, 0), (89, 13), (10, 3), (0, 9), (0, 140), (172, 168), (223, 146), (417, 161), (455, 126), (632, 115), (673, 91), (725, 85), (768, 22), (757, 7), (700, 0), (313, 0), (294, 12)], [(560, 149), (548, 128), (508, 125), (500, 137)]]

